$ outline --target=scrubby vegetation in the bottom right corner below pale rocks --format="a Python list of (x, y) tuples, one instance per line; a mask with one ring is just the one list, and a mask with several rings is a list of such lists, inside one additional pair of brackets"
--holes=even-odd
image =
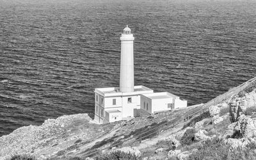
[(248, 147), (230, 148), (229, 145), (223, 142), (220, 138), (214, 138), (202, 143), (198, 150), (193, 152), (189, 159), (255, 159), (255, 145)]

